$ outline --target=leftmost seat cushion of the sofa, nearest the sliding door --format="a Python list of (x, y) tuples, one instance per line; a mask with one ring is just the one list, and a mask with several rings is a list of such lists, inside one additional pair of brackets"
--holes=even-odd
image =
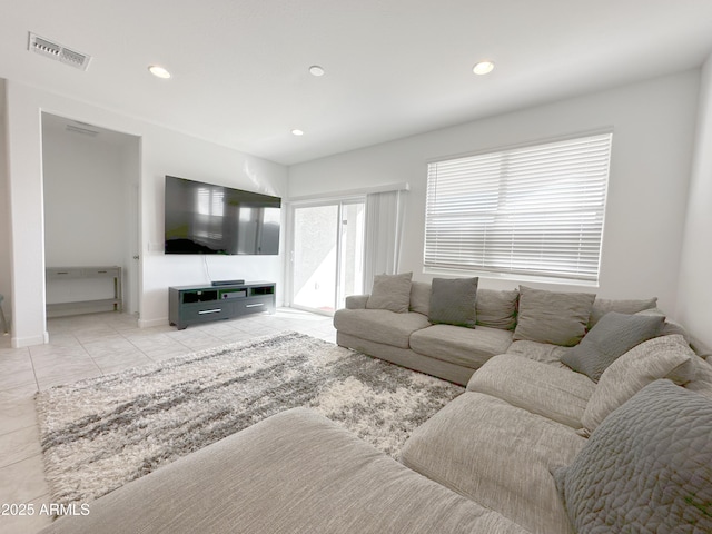
[(409, 347), (411, 334), (429, 325), (427, 317), (413, 312), (396, 314), (387, 309), (339, 309), (334, 314), (337, 330), (400, 348)]

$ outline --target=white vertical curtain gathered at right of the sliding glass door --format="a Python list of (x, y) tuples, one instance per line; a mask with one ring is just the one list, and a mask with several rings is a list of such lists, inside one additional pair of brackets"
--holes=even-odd
[(365, 293), (370, 293), (375, 275), (398, 273), (405, 191), (366, 195)]

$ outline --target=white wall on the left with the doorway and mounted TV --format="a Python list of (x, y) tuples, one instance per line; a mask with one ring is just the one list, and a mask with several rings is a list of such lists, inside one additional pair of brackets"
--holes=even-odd
[[(285, 167), (117, 115), (43, 90), (7, 81), (9, 182), (12, 202), (13, 346), (43, 343), (44, 239), (42, 202), (42, 111), (141, 138), (141, 326), (161, 325), (168, 317), (171, 285), (208, 281), (202, 258), (165, 256), (164, 177), (175, 175), (241, 189), (286, 196)], [(284, 211), (284, 210), (283, 210)], [(267, 279), (283, 285), (281, 256), (208, 258), (216, 278)], [(278, 289), (278, 299), (280, 294)]]

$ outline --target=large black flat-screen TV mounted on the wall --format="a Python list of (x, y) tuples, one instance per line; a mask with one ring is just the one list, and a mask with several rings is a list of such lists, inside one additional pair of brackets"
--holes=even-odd
[(281, 199), (166, 176), (166, 254), (279, 254)]

